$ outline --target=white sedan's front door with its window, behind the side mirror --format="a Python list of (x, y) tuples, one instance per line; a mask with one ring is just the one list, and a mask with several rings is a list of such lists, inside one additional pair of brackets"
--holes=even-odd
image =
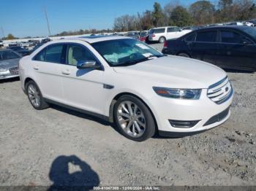
[(96, 61), (94, 55), (80, 44), (67, 45), (67, 64), (61, 66), (64, 97), (67, 105), (89, 112), (103, 114), (105, 91), (104, 71), (101, 69), (78, 69), (77, 64)]

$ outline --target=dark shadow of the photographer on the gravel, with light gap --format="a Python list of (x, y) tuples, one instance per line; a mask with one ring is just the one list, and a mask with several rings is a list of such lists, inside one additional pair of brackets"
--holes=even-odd
[(52, 190), (91, 190), (99, 185), (98, 174), (91, 166), (75, 155), (56, 157), (53, 161), (49, 179)]

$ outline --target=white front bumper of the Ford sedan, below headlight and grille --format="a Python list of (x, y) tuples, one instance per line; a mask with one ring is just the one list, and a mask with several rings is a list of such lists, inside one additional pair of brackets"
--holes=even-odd
[[(208, 98), (207, 89), (202, 90), (198, 100), (156, 98), (154, 116), (157, 120), (159, 132), (162, 136), (167, 132), (195, 133), (221, 125), (230, 117), (229, 107), (232, 100), (233, 93), (224, 103), (216, 104)], [(198, 122), (191, 128), (177, 128), (170, 124), (170, 120)]]

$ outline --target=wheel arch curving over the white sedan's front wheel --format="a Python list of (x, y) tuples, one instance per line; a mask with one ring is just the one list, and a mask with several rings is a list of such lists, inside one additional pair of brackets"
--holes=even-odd
[(113, 110), (114, 110), (114, 106), (116, 104), (116, 101), (118, 100), (118, 98), (120, 98), (123, 95), (132, 95), (135, 98), (138, 98), (140, 101), (142, 101), (143, 104), (145, 104), (145, 106), (148, 108), (149, 112), (151, 112), (151, 115), (153, 117), (154, 123), (156, 125), (156, 133), (158, 131), (158, 126), (157, 126), (157, 120), (156, 117), (154, 116), (154, 113), (152, 112), (152, 109), (148, 106), (148, 104), (143, 101), (142, 98), (140, 98), (138, 95), (135, 95), (134, 93), (129, 93), (129, 92), (123, 92), (123, 93), (118, 93), (111, 101), (110, 107), (109, 107), (109, 121), (110, 122), (114, 122), (114, 117), (113, 117)]

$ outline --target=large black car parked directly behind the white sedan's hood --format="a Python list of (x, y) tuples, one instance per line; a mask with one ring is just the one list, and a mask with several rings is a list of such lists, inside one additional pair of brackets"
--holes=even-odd
[(256, 29), (249, 26), (203, 28), (168, 40), (162, 52), (206, 61), (223, 69), (255, 71)]

